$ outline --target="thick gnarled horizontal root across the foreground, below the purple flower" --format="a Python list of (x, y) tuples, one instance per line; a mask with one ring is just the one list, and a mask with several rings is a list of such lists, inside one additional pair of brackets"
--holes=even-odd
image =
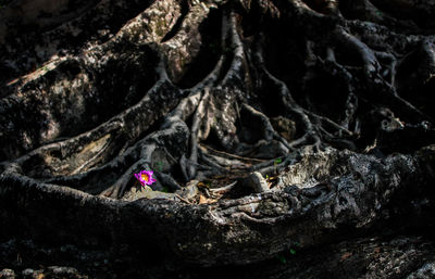
[[(395, 200), (400, 192), (432, 198), (434, 157), (433, 147), (384, 160), (328, 150), (302, 156), (282, 173), (282, 192), (208, 205), (94, 196), (40, 183), (11, 169), (1, 177), (1, 225), (7, 229), (3, 233), (88, 245), (128, 245), (139, 253), (157, 249), (204, 266), (248, 264), (291, 246), (328, 243), (340, 233), (388, 221), (400, 214), (395, 204), (403, 202), (402, 210), (412, 207)], [(412, 219), (403, 218), (403, 226), (407, 221), (410, 227), (419, 221), (434, 225), (434, 219), (418, 214), (419, 206), (427, 204), (413, 206), (414, 215), (408, 213)]]

